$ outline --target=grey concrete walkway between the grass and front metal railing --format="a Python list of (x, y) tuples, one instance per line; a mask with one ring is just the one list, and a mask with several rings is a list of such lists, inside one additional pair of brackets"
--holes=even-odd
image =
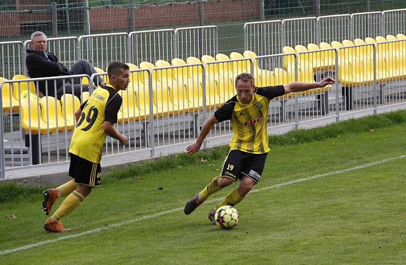
[[(393, 106), (378, 108), (377, 113), (389, 112), (398, 109), (406, 109), (406, 103), (401, 103)], [(353, 112), (340, 116), (340, 121), (350, 118), (360, 118), (366, 115), (373, 115), (373, 110), (364, 110), (362, 112)], [(334, 123), (335, 117), (329, 117), (319, 120), (299, 123), (299, 128), (320, 127), (326, 124)], [(283, 134), (294, 129), (294, 125), (286, 125), (273, 127), (268, 129), (269, 134)], [(231, 135), (218, 138), (208, 139), (207, 147), (214, 147), (228, 144)], [(114, 156), (104, 157), (101, 160), (101, 167), (104, 170), (110, 169), (112, 166), (125, 166), (128, 164), (136, 164), (141, 161), (151, 161), (160, 156), (185, 152), (189, 143), (165, 146), (155, 148), (155, 157), (151, 157), (150, 150), (140, 150), (132, 153), (119, 154)], [(271, 151), (272, 152), (272, 151)], [(38, 185), (57, 185), (69, 180), (68, 176), (69, 162), (62, 162), (51, 165), (38, 165), (25, 167), (24, 169), (6, 171), (6, 178), (2, 181), (17, 181), (21, 183), (38, 184)]]

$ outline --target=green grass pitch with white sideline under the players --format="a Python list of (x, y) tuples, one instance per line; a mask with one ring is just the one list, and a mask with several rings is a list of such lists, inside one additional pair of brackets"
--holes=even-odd
[(235, 184), (183, 213), (223, 159), (108, 181), (62, 220), (66, 234), (44, 231), (41, 194), (2, 203), (0, 263), (404, 264), (405, 130), (274, 146), (230, 231), (207, 215)]

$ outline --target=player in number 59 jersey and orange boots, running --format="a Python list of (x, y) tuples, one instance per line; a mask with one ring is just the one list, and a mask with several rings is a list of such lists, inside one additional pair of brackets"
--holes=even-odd
[(73, 179), (44, 192), (42, 206), (46, 215), (49, 215), (58, 197), (68, 195), (45, 222), (46, 231), (71, 231), (63, 228), (60, 220), (75, 210), (93, 187), (100, 185), (100, 160), (106, 136), (119, 140), (123, 145), (127, 142), (127, 137), (120, 134), (114, 124), (117, 123), (117, 112), (122, 103), (118, 92), (126, 90), (130, 82), (129, 67), (125, 63), (112, 62), (107, 73), (109, 84), (95, 89), (75, 113), (77, 124), (69, 147), (69, 176)]

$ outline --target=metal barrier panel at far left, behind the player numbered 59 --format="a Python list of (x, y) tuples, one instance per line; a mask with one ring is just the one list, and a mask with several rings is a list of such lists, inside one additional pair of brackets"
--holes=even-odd
[[(53, 81), (56, 84), (57, 80), (69, 82), (75, 78), (89, 80), (88, 75), (81, 74), (10, 80), (0, 84), (2, 93), (3, 89), (9, 89), (12, 97), (14, 97), (13, 94), (17, 95), (17, 98), (14, 97), (17, 102), (17, 109), (14, 111), (4, 111), (3, 100), (0, 102), (1, 117), (16, 116), (19, 119), (17, 129), (11, 124), (9, 132), (1, 133), (0, 155), (3, 178), (6, 166), (7, 169), (15, 169), (68, 160), (67, 150), (75, 127), (75, 111), (80, 106), (80, 99), (76, 98), (73, 92), (64, 93), (60, 101), (50, 96), (40, 99), (37, 95), (39, 95), (38, 87), (41, 81), (45, 81), (47, 89), (47, 81)], [(67, 83), (64, 83), (62, 88), (66, 92), (70, 90)], [(13, 119), (10, 121), (13, 123)], [(2, 119), (2, 128), (4, 128), (4, 119)]]

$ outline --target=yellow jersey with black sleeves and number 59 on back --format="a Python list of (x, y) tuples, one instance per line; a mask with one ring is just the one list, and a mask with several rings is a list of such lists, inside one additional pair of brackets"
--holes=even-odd
[(117, 123), (122, 98), (111, 86), (97, 88), (80, 108), (82, 113), (72, 135), (69, 152), (93, 163), (100, 163), (106, 132), (104, 122)]

